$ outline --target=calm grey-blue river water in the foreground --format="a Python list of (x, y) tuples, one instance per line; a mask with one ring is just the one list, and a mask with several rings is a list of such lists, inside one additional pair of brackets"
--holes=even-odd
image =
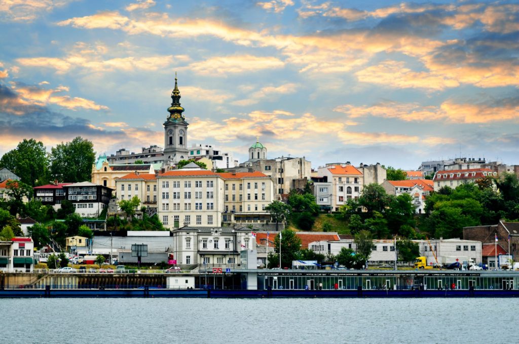
[(516, 343), (518, 299), (0, 299), (0, 343)]

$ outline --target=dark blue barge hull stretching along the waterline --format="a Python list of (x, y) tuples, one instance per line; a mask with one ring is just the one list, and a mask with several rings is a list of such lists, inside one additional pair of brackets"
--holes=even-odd
[(519, 290), (204, 290), (204, 289), (6, 289), (0, 298), (30, 297), (519, 297)]

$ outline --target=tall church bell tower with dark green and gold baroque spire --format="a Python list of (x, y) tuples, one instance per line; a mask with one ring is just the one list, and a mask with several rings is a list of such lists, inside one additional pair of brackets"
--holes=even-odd
[(180, 91), (175, 73), (175, 88), (171, 92), (172, 103), (168, 108), (169, 116), (164, 125), (164, 164), (175, 165), (181, 160), (187, 160), (187, 126), (180, 106)]

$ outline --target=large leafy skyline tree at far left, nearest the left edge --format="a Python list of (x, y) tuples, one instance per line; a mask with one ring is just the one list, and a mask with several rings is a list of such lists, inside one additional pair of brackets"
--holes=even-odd
[[(20, 181), (35, 187), (48, 181), (49, 159), (42, 141), (23, 139), (18, 146), (0, 159), (0, 168), (5, 167), (20, 177)], [(90, 169), (92, 166), (90, 165)]]

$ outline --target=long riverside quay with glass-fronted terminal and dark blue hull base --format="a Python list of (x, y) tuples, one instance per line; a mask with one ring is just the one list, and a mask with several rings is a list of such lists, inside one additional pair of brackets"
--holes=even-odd
[(0, 274), (2, 297), (519, 297), (517, 271), (229, 269)]

